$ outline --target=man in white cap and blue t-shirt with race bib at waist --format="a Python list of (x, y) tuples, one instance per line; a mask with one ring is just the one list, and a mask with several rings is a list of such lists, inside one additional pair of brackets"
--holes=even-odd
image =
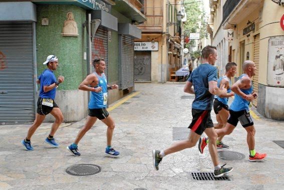
[(37, 103), (37, 114), (36, 120), (33, 125), (30, 127), (27, 137), (22, 140), (22, 144), (27, 150), (34, 150), (34, 147), (31, 145), (31, 138), (37, 128), (42, 124), (46, 115), (51, 113), (55, 117), (55, 122), (52, 125), (49, 136), (45, 139), (45, 142), (58, 147), (58, 143), (54, 139), (54, 134), (57, 131), (59, 125), (63, 122), (63, 114), (59, 109), (58, 105), (55, 103), (56, 88), (60, 83), (64, 81), (63, 76), (59, 76), (58, 80), (54, 75), (54, 71), (58, 67), (58, 59), (54, 55), (47, 57), (47, 60), (44, 62), (44, 65), (47, 65), (47, 69), (39, 76), (37, 84), (40, 84), (40, 97)]

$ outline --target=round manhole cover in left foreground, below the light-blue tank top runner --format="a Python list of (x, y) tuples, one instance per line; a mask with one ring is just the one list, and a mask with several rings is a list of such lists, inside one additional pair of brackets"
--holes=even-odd
[(78, 164), (68, 167), (66, 172), (77, 176), (94, 175), (101, 172), (101, 167), (95, 164)]

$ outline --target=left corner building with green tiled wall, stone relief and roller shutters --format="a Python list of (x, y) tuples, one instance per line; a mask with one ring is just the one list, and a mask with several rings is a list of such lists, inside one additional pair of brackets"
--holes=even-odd
[[(65, 121), (87, 116), (88, 92), (78, 90), (78, 86), (94, 72), (88, 60), (105, 58), (108, 83), (119, 85), (109, 92), (109, 103), (132, 92), (134, 39), (141, 38), (134, 24), (146, 21), (141, 3), (136, 2), (0, 1), (0, 123), (34, 120), (38, 97), (35, 81), (46, 69), (43, 62), (48, 55), (59, 58), (55, 74), (65, 77), (56, 97)], [(92, 20), (100, 20), (91, 44), (89, 14)], [(46, 119), (52, 120), (51, 116)]]

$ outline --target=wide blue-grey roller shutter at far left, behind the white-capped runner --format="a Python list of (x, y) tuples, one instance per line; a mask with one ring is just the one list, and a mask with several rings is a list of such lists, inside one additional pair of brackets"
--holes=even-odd
[(33, 24), (0, 22), (0, 124), (34, 119)]

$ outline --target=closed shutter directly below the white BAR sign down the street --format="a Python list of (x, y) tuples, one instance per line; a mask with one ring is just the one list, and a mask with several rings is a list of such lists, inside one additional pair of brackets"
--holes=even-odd
[(134, 52), (134, 80), (151, 81), (151, 51)]

